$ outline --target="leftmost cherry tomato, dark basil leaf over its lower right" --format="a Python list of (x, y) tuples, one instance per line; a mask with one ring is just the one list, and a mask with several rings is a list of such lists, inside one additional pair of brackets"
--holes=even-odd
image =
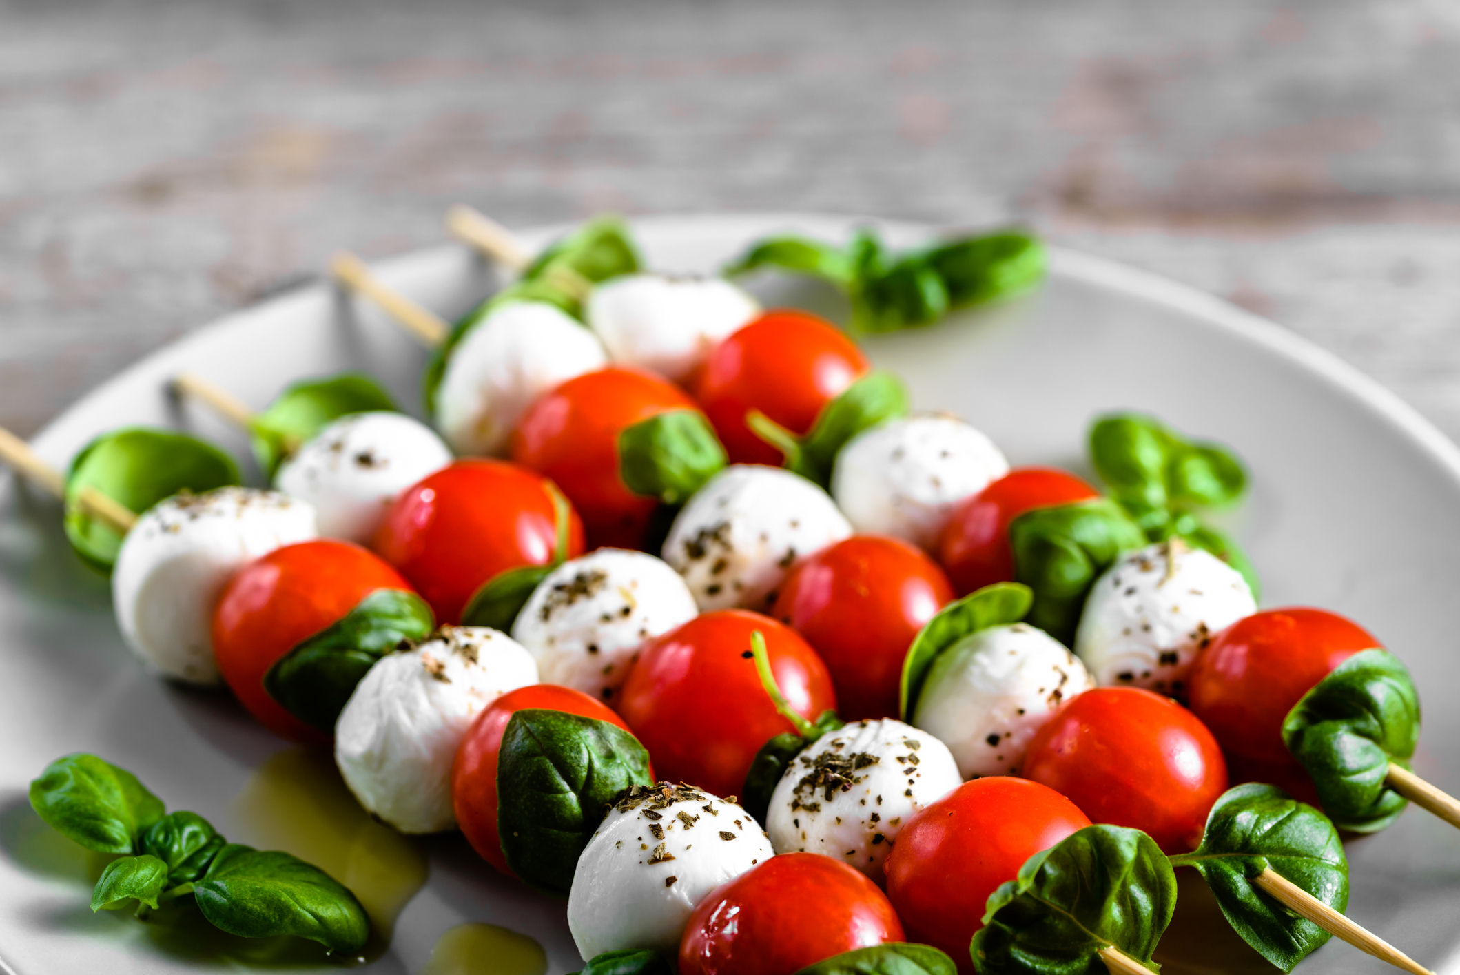
[(269, 696), (264, 674), (375, 590), (410, 585), (361, 546), (336, 539), (286, 544), (235, 572), (213, 609), (213, 655), (248, 714), (286, 739), (328, 741)]

